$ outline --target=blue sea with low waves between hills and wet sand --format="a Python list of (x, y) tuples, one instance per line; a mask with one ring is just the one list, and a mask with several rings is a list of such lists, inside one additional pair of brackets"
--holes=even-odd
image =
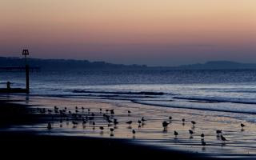
[[(25, 78), (2, 72), (0, 87), (24, 88)], [(41, 70), (30, 73), (30, 95), (256, 114), (256, 70)]]

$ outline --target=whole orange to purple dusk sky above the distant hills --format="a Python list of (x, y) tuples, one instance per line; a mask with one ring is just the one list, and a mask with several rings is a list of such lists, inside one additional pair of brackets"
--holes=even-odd
[(256, 62), (255, 0), (1, 0), (0, 56)]

